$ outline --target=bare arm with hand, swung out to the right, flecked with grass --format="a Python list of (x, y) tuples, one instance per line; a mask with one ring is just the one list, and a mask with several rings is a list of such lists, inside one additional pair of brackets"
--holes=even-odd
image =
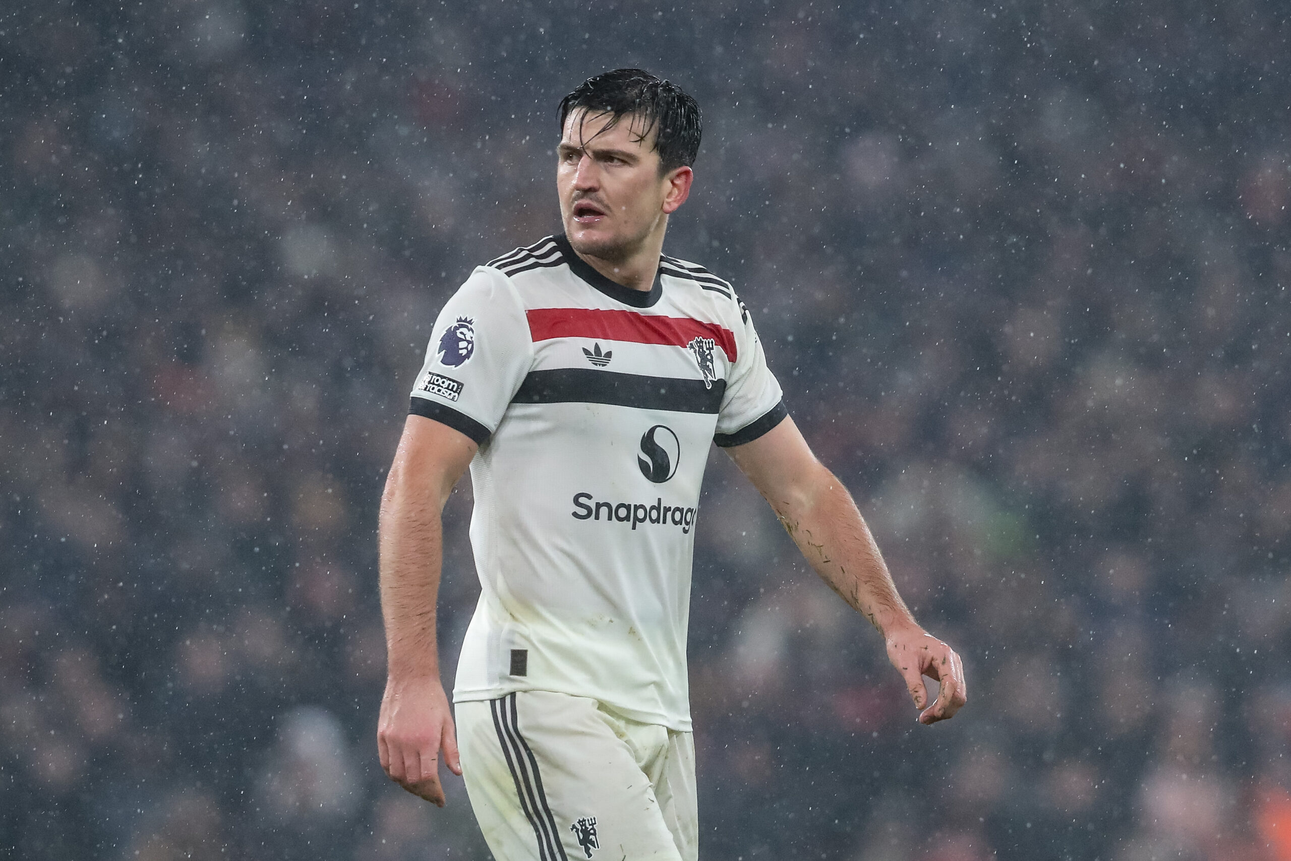
[[(954, 716), (967, 698), (959, 656), (914, 621), (851, 493), (811, 453), (793, 420), (727, 451), (816, 573), (883, 635), (888, 658), (923, 710), (919, 720)], [(932, 705), (924, 675), (941, 683)]]

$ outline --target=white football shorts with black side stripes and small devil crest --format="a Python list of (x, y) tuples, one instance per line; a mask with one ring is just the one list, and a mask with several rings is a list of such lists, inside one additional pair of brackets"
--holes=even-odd
[(698, 857), (691, 733), (546, 691), (456, 713), (466, 791), (497, 861)]

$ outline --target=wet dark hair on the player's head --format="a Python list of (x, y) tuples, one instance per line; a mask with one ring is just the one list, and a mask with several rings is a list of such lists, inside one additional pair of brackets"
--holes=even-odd
[[(700, 106), (680, 86), (640, 68), (616, 68), (589, 77), (560, 99), (560, 129), (574, 108), (589, 115), (611, 114), (607, 129), (631, 116), (634, 139), (644, 141), (652, 129), (660, 170), (666, 173), (695, 164), (700, 152)], [(639, 123), (639, 127), (638, 127)]]

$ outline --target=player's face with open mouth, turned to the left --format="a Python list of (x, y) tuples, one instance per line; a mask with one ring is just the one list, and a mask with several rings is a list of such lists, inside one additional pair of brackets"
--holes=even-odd
[[(635, 123), (633, 120), (636, 120)], [(578, 108), (565, 117), (556, 150), (560, 218), (574, 250), (603, 259), (626, 259), (667, 214), (682, 205), (678, 176), (689, 168), (660, 173), (655, 133), (638, 141), (640, 120), (627, 115), (611, 128), (608, 114)]]

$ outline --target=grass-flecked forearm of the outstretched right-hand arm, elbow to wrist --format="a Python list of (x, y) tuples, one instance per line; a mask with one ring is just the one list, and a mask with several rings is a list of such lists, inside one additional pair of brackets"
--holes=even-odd
[(852, 496), (818, 462), (797, 498), (771, 500), (776, 516), (821, 580), (887, 636), (915, 626)]

